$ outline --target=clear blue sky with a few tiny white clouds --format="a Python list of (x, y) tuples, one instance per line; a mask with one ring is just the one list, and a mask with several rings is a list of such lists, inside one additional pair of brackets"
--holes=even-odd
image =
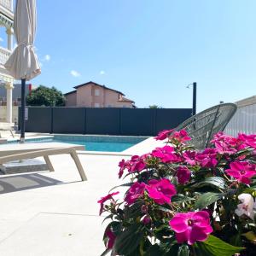
[(63, 92), (87, 81), (145, 108), (198, 110), (256, 95), (254, 0), (38, 1), (32, 84)]

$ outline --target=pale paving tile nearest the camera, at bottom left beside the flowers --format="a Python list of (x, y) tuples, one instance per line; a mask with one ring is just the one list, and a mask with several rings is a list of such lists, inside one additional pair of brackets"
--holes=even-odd
[(102, 218), (39, 213), (0, 242), (5, 256), (98, 256), (102, 244)]

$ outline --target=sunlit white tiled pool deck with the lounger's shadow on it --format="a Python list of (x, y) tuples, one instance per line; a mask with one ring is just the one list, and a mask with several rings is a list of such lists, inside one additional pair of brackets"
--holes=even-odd
[(0, 176), (0, 255), (99, 256), (105, 224), (96, 201), (124, 182), (119, 160), (162, 145), (148, 138), (120, 153), (79, 152), (86, 182), (66, 155), (50, 157), (55, 172)]

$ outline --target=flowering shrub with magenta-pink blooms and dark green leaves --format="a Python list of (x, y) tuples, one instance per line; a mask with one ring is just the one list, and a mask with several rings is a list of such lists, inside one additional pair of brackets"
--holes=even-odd
[(256, 135), (219, 132), (202, 151), (186, 131), (155, 138), (166, 145), (119, 162), (124, 201), (98, 201), (111, 220), (102, 255), (256, 255)]

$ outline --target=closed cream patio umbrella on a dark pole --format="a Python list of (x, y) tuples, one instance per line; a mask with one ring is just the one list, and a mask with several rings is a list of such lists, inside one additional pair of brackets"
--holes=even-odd
[(14, 32), (17, 47), (4, 67), (15, 79), (21, 79), (20, 142), (25, 139), (25, 87), (41, 73), (37, 55), (33, 49), (36, 33), (36, 0), (16, 0)]

